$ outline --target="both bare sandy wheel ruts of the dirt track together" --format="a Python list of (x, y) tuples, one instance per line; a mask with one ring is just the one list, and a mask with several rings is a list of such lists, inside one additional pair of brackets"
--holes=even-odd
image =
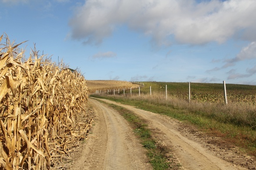
[[(148, 120), (149, 128), (158, 141), (170, 147), (185, 170), (244, 170), (240, 165), (249, 163), (256, 168), (255, 159), (242, 157), (232, 149), (211, 144), (211, 139), (199, 137), (200, 133), (186, 133), (185, 126), (167, 116), (101, 99), (125, 107)], [(106, 105), (89, 99), (98, 120), (93, 134), (73, 163), (74, 170), (150, 170), (145, 150), (139, 144), (124, 118)], [(181, 132), (182, 131), (182, 132)], [(187, 130), (189, 131), (189, 130)], [(229, 159), (230, 158), (230, 159)], [(232, 159), (231, 159), (232, 158)], [(226, 159), (229, 163), (223, 159)], [(248, 161), (249, 160), (249, 161)], [(239, 162), (240, 161), (240, 162)], [(241, 164), (242, 163), (242, 164)]]

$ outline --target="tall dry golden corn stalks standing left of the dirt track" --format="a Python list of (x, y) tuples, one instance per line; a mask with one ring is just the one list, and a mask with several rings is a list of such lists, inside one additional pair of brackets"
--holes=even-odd
[[(0, 37), (0, 169), (54, 169), (63, 154), (85, 138), (88, 88), (71, 72), (20, 44)], [(81, 117), (83, 122), (78, 122)]]

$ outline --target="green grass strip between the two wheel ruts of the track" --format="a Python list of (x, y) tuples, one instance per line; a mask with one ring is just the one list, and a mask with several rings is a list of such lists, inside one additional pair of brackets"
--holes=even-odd
[(98, 101), (115, 109), (128, 121), (130, 126), (133, 128), (134, 133), (140, 139), (141, 144), (147, 150), (149, 163), (152, 164), (154, 170), (167, 170), (170, 167), (172, 167), (174, 170), (179, 170), (179, 167), (181, 167), (179, 163), (171, 163), (168, 161), (168, 157), (170, 156), (167, 156), (167, 153), (170, 153), (170, 150), (167, 147), (158, 145), (154, 137), (152, 137), (152, 132), (150, 129), (148, 129), (147, 121), (138, 117), (135, 113), (126, 108), (118, 105), (108, 104), (101, 100)]

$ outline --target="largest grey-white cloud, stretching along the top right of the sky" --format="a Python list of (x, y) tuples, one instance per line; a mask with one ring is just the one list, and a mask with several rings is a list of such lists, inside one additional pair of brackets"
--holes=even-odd
[(98, 44), (121, 24), (152, 37), (159, 46), (219, 43), (236, 34), (256, 40), (255, 0), (86, 0), (69, 25), (71, 36)]

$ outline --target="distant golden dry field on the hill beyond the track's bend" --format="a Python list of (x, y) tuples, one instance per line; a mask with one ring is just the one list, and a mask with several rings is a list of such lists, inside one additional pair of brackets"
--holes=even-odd
[(87, 85), (90, 93), (94, 93), (97, 90), (107, 91), (109, 89), (135, 88), (138, 86), (131, 82), (117, 80), (88, 80)]

